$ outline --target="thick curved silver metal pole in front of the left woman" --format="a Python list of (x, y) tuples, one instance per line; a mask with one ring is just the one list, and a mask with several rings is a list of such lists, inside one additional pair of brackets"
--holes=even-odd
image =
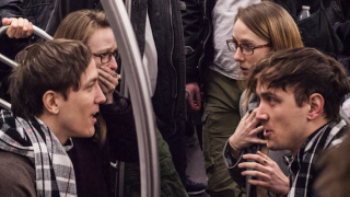
[(159, 197), (160, 172), (153, 109), (136, 36), (122, 0), (101, 2), (118, 43), (126, 73), (122, 78), (130, 91), (139, 144), (141, 197)]

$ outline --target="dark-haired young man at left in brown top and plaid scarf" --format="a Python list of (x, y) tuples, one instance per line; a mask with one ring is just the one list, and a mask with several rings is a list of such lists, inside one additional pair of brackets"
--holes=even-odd
[(21, 51), (0, 113), (0, 196), (77, 196), (71, 137), (92, 137), (105, 96), (90, 49), (55, 39)]

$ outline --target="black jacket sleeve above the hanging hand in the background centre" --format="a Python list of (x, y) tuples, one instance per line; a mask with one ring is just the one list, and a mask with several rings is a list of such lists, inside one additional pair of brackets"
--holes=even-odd
[(214, 4), (214, 0), (180, 1), (187, 83), (201, 83), (206, 68), (213, 60), (211, 11)]

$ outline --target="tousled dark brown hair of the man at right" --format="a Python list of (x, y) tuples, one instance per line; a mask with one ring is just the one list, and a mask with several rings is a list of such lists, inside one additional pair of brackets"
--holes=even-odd
[(248, 90), (256, 92), (257, 83), (269, 88), (294, 88), (301, 107), (313, 93), (324, 100), (324, 115), (328, 120), (339, 118), (342, 97), (350, 92), (347, 71), (334, 58), (314, 48), (293, 48), (276, 51), (259, 60), (252, 69)]

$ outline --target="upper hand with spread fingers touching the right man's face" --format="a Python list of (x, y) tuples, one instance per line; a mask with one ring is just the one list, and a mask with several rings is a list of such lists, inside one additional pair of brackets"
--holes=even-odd
[(257, 127), (259, 120), (255, 118), (256, 109), (252, 114), (246, 113), (241, 119), (236, 130), (230, 137), (230, 144), (234, 150), (241, 150), (250, 147), (254, 143), (266, 143), (266, 140), (258, 138), (262, 131), (262, 126)]

